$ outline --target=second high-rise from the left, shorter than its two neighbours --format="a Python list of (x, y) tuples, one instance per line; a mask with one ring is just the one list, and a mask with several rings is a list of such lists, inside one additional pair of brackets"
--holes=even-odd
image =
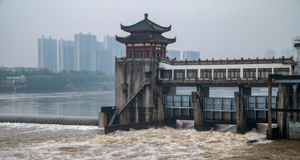
[(58, 41), (59, 71), (74, 70), (74, 41)]

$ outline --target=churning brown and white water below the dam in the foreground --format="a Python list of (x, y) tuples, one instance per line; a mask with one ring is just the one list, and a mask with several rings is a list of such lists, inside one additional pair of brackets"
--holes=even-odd
[[(0, 123), (0, 159), (300, 159), (299, 141), (250, 132), (117, 131), (91, 126)], [(248, 140), (258, 143), (248, 144)]]

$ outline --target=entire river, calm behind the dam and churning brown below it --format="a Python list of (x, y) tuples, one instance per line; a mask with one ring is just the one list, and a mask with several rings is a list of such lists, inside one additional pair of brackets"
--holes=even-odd
[[(212, 89), (210, 96), (233, 97), (234, 91)], [(101, 105), (114, 105), (114, 92), (0, 94), (1, 114), (95, 117)], [(104, 135), (95, 126), (0, 123), (0, 159), (300, 159), (300, 141), (269, 141), (255, 130), (235, 134), (230, 126), (207, 132), (186, 126)], [(247, 143), (253, 139), (259, 141)]]

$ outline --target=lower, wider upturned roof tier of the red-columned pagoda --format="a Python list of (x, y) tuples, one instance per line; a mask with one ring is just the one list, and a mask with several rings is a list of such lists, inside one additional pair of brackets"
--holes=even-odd
[(116, 40), (121, 43), (133, 43), (133, 42), (159, 42), (159, 43), (174, 43), (176, 42), (176, 38), (169, 39), (163, 36), (127, 36), (127, 37), (118, 37), (116, 36)]

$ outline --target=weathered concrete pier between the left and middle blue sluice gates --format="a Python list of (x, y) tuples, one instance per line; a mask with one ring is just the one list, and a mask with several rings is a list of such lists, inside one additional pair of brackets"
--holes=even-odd
[(192, 102), (194, 106), (194, 129), (197, 131), (204, 130), (204, 113), (202, 106), (203, 95), (200, 96), (197, 92), (192, 92)]

